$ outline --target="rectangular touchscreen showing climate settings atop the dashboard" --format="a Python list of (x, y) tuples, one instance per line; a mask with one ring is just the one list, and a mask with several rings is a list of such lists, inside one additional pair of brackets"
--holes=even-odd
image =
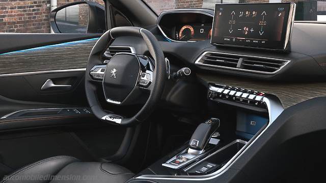
[(291, 3), (216, 4), (211, 43), (285, 49), (293, 6)]

